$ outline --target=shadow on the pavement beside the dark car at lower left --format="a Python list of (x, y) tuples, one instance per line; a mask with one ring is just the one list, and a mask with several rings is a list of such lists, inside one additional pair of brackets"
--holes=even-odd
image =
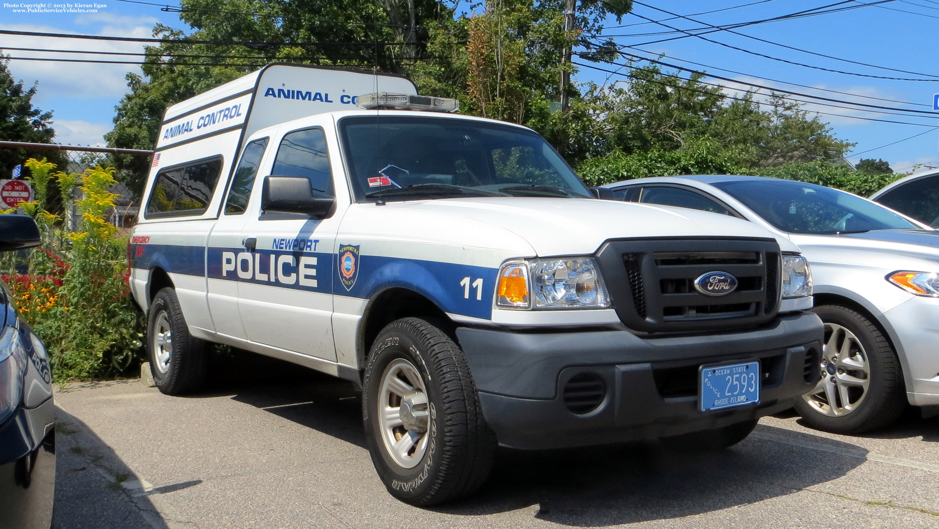
[(53, 529), (168, 529), (149, 495), (201, 483), (149, 490), (91, 428), (61, 408), (55, 435)]

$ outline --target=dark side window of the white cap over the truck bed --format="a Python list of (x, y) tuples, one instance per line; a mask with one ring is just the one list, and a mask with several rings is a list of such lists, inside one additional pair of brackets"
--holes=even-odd
[(200, 160), (157, 174), (146, 205), (147, 218), (198, 216), (208, 210), (222, 158)]

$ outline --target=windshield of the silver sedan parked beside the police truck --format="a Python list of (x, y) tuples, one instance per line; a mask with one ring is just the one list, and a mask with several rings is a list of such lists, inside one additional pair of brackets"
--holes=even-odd
[(769, 224), (790, 233), (832, 235), (916, 228), (897, 213), (854, 194), (782, 179), (714, 182)]

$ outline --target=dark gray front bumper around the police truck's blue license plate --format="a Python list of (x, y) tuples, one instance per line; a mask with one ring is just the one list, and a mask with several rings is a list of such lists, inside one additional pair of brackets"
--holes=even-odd
[[(785, 410), (817, 381), (818, 361), (809, 360), (818, 358), (823, 333), (822, 321), (808, 312), (781, 316), (760, 329), (716, 335), (456, 330), (486, 422), (500, 443), (516, 448), (679, 435)], [(755, 406), (700, 412), (696, 387), (663, 386), (663, 373), (686, 382), (702, 364), (752, 358), (766, 370)], [(565, 407), (562, 388), (583, 372), (599, 376), (608, 397), (595, 412), (576, 415)]]

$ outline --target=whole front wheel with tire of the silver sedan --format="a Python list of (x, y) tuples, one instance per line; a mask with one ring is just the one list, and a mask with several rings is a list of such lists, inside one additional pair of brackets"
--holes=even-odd
[(862, 433), (884, 428), (906, 408), (897, 354), (876, 325), (839, 305), (812, 309), (824, 321), (818, 384), (795, 402), (811, 428)]

